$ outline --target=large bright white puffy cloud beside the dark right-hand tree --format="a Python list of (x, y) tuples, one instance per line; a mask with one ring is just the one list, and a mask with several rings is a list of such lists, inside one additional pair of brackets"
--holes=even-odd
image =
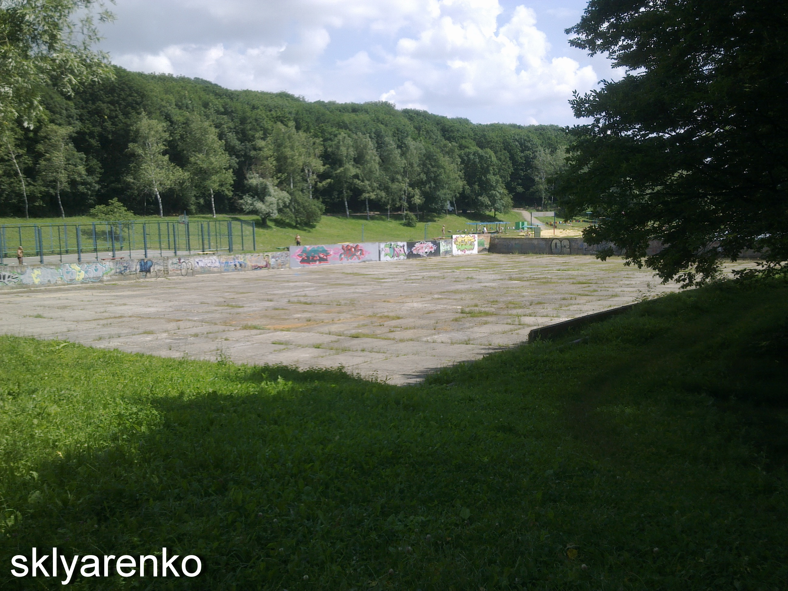
[(520, 107), (533, 117), (545, 102), (565, 106), (574, 89), (597, 82), (590, 66), (548, 59), (549, 44), (533, 10), (517, 6), (499, 27), (497, 2), (441, 4), (445, 10), (429, 28), (397, 43), (392, 64), (408, 83), (382, 95), (397, 105), (412, 106), (412, 97), (418, 97), (420, 104), (454, 109)]

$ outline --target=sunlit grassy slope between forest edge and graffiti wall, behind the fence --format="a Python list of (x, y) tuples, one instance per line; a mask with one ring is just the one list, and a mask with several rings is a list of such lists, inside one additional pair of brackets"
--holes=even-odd
[[(287, 247), (292, 244), (295, 244), (296, 234), (300, 234), (301, 236), (301, 243), (303, 244), (330, 244), (330, 243), (341, 243), (341, 242), (385, 242), (387, 240), (400, 240), (400, 241), (414, 241), (414, 240), (424, 240), (425, 236), (427, 238), (437, 238), (440, 237), (441, 226), (446, 226), (446, 235), (449, 236), (454, 233), (461, 233), (461, 232), (470, 232), (472, 226), (469, 226), (467, 222), (469, 221), (522, 221), (522, 215), (519, 214), (517, 211), (511, 211), (508, 214), (498, 214), (497, 217), (493, 218), (491, 215), (485, 216), (480, 214), (460, 214), (460, 215), (434, 215), (428, 217), (426, 221), (419, 222), (415, 228), (407, 228), (406, 226), (402, 225), (401, 216), (396, 216), (392, 214), (390, 220), (387, 220), (385, 215), (382, 216), (374, 216), (373, 219), (367, 221), (366, 216), (359, 216), (353, 215), (349, 219), (344, 216), (338, 215), (326, 215), (322, 217), (322, 220), (316, 225), (313, 229), (308, 228), (292, 228), (288, 225), (281, 224), (277, 220), (269, 221), (269, 225), (266, 227), (260, 227), (260, 218), (256, 216), (249, 216), (249, 215), (240, 215), (240, 216), (220, 216), (220, 219), (223, 220), (247, 220), (247, 221), (255, 221), (256, 222), (256, 230), (255, 230), (255, 250), (258, 252), (262, 251), (276, 251), (277, 247)], [(195, 215), (189, 216), (190, 222), (199, 222), (199, 221), (211, 221), (214, 218), (208, 215)], [(96, 220), (91, 217), (67, 217), (65, 218), (66, 224), (82, 224), (85, 225), (85, 231), (90, 229), (90, 225), (95, 222)], [(162, 221), (162, 218), (159, 217), (135, 217), (134, 221), (138, 221), (139, 224), (135, 226), (135, 250), (139, 250), (143, 247), (143, 239), (142, 239), (142, 222), (147, 221), (151, 223), (155, 223), (158, 221)], [(163, 221), (174, 222), (177, 221), (177, 216), (173, 217), (165, 217)], [(46, 218), (35, 218), (31, 219), (28, 222), (24, 220), (20, 220), (17, 218), (0, 218), (0, 225), (19, 225), (22, 223), (30, 223), (30, 224), (62, 224), (63, 220), (59, 217), (46, 217)], [(225, 224), (226, 225), (226, 224)], [(426, 225), (426, 228), (425, 228)], [(107, 230), (109, 232), (109, 230)], [(69, 246), (70, 252), (76, 252), (76, 237), (75, 229), (69, 228)], [(125, 236), (124, 230), (124, 236)], [(151, 236), (149, 236), (148, 240), (149, 247), (151, 251), (156, 251), (157, 247), (155, 246), (155, 234), (156, 229), (151, 228), (149, 229), (151, 232)], [(166, 231), (165, 236), (166, 236)], [(182, 233), (182, 230), (180, 230)], [(199, 236), (199, 228), (196, 225), (192, 228), (192, 232), (196, 232), (195, 236), (192, 236), (192, 240), (194, 240), (194, 248), (195, 250), (199, 249), (199, 240), (197, 237)], [(222, 229), (222, 232), (225, 232)], [(236, 226), (234, 232), (239, 232), (239, 229)], [(251, 229), (247, 229), (247, 232), (251, 232)], [(18, 238), (17, 232), (13, 228), (6, 229), (6, 256), (13, 256), (13, 251), (16, 251), (18, 246)], [(47, 230), (44, 232), (44, 239), (45, 239), (45, 246), (47, 249), (55, 248), (58, 249), (58, 232), (54, 233), (54, 240), (50, 238), (50, 232)], [(362, 240), (363, 239), (363, 240)], [(50, 240), (47, 242), (46, 240)], [(102, 239), (103, 240), (103, 239)], [(106, 250), (108, 248), (106, 246), (107, 240), (104, 240), (102, 245), (99, 246), (99, 249)], [(65, 244), (67, 242), (63, 242)], [(166, 242), (165, 242), (166, 243)], [(54, 246), (52, 246), (54, 244)], [(89, 236), (83, 237), (83, 247), (87, 251), (89, 251), (92, 247), (92, 243)], [(226, 244), (225, 244), (226, 246)], [(247, 236), (246, 243), (244, 245), (244, 250), (251, 251), (252, 248), (252, 241), (251, 241), (251, 234)], [(35, 239), (33, 237), (32, 229), (24, 232), (23, 234), (23, 247), (25, 251), (28, 252), (28, 255), (35, 253)], [(123, 251), (124, 248), (121, 247), (121, 243), (117, 244), (118, 250)], [(166, 248), (166, 247), (165, 247)], [(184, 250), (182, 246), (179, 246), (180, 250)], [(240, 240), (236, 236), (235, 240), (235, 249), (236, 251), (242, 250), (240, 247)], [(52, 251), (55, 253), (55, 251)], [(47, 250), (46, 254), (50, 254), (50, 250)], [(56, 254), (56, 253), (55, 253)]]

